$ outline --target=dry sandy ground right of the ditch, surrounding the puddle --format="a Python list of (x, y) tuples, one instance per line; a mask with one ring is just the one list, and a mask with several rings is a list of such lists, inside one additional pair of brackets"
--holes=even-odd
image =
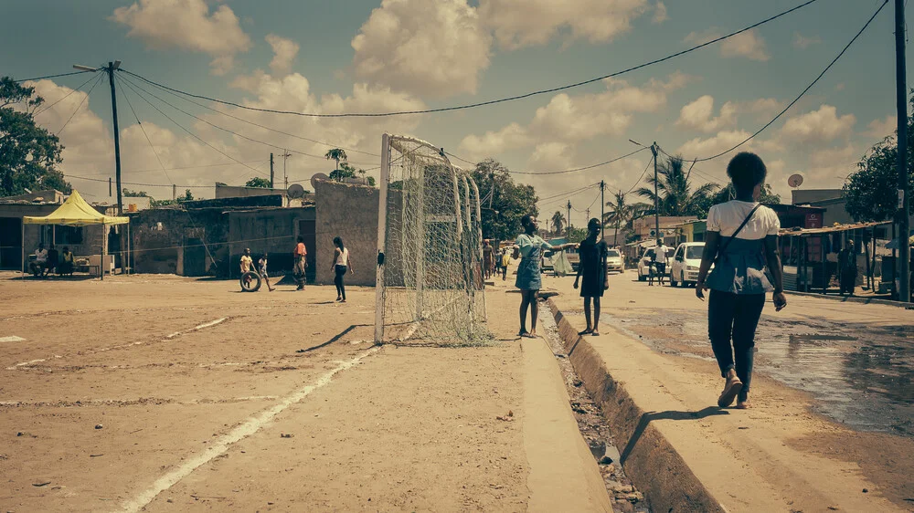
[[(692, 343), (707, 340), (706, 304), (695, 298), (694, 289), (648, 288), (632, 278), (632, 273), (610, 278), (602, 305), (609, 315), (603, 317), (602, 335), (590, 341), (613, 377), (643, 402), (643, 409), (654, 412), (650, 422), (664, 430), (728, 510), (914, 510), (914, 439), (898, 435), (909, 432), (861, 431), (818, 414), (813, 393), (778, 379), (781, 372), (773, 362), (779, 360), (771, 353), (756, 360), (753, 409), (717, 409), (722, 385), (717, 364), (709, 347), (702, 351)], [(572, 281), (547, 278), (544, 286), (563, 292), (556, 299), (560, 309), (583, 329)], [(788, 309), (778, 314), (769, 305), (769, 326), (841, 319), (877, 328), (914, 320), (914, 312), (892, 307), (789, 300)], [(759, 354), (769, 350), (761, 348)], [(796, 348), (784, 351), (785, 358), (796, 357)], [(830, 370), (824, 365), (828, 351), (820, 353), (823, 366), (809, 357), (804, 378), (817, 380)], [(909, 383), (909, 374), (899, 378)], [(835, 379), (855, 380), (845, 374)]]

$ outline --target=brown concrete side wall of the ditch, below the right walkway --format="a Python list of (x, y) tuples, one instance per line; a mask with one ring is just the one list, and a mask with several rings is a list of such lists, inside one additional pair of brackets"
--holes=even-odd
[[(547, 299), (547, 304), (569, 361), (590, 397), (600, 404), (617, 441), (625, 444), (622, 464), (626, 476), (647, 497), (651, 509), (725, 513), (726, 509), (698, 480), (675, 447), (650, 424), (650, 413), (634, 403), (624, 385), (612, 378), (590, 341), (578, 334), (555, 301)], [(637, 441), (633, 446), (632, 440)]]

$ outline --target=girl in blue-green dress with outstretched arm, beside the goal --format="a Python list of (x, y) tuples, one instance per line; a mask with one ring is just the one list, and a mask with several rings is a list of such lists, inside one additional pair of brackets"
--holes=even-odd
[[(537, 297), (539, 288), (542, 286), (542, 255), (543, 249), (568, 249), (574, 247), (574, 243), (563, 244), (561, 246), (552, 246), (537, 236), (537, 220), (532, 215), (525, 215), (521, 218), (520, 224), (524, 227), (524, 233), (517, 236), (515, 246), (515, 257), (520, 255), (520, 264), (517, 266), (517, 279), (515, 287), (520, 288), (520, 331), (517, 333), (520, 337), (533, 339), (537, 337), (537, 315), (539, 314), (539, 305)], [(530, 309), (530, 331), (526, 330), (526, 310)]]

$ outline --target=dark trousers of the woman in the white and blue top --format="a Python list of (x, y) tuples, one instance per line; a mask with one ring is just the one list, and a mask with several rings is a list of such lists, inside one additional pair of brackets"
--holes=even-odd
[[(755, 330), (759, 326), (761, 310), (765, 308), (764, 294), (733, 294), (711, 290), (707, 299), (707, 336), (720, 367), (720, 375), (727, 377), (735, 369), (743, 382), (739, 400), (749, 394), (752, 381), (752, 361), (755, 350)], [(732, 341), (732, 346), (731, 346)]]

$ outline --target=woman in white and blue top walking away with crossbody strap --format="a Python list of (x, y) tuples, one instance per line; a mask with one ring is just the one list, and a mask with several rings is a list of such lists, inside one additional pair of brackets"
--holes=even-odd
[[(704, 291), (711, 290), (707, 335), (725, 380), (717, 398), (721, 408), (734, 399), (737, 408), (749, 408), (755, 331), (765, 307), (765, 294), (773, 290), (777, 311), (787, 306), (778, 253), (781, 222), (771, 208), (758, 203), (767, 173), (758, 155), (739, 153), (727, 165), (737, 198), (716, 204), (707, 213), (705, 250), (695, 295), (704, 300)], [(714, 271), (708, 276), (712, 263)], [(773, 285), (765, 274), (766, 263)]]

